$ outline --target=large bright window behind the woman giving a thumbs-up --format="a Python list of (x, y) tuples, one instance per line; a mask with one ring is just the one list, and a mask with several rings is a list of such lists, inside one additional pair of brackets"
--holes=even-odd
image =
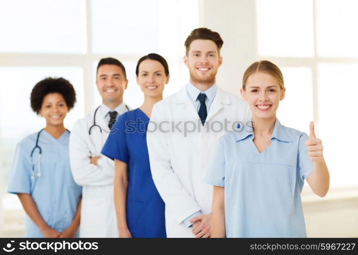
[(331, 187), (358, 179), (350, 129), (358, 121), (345, 107), (358, 92), (357, 9), (354, 0), (256, 0), (259, 59), (278, 64), (285, 80), (278, 117), (306, 133), (315, 120)]

